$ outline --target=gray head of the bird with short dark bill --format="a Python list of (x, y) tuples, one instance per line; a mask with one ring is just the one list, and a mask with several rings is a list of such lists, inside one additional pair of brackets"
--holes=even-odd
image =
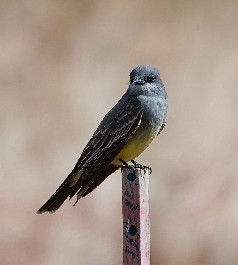
[(165, 92), (158, 69), (152, 66), (135, 67), (130, 72), (128, 92), (134, 95), (152, 95)]

